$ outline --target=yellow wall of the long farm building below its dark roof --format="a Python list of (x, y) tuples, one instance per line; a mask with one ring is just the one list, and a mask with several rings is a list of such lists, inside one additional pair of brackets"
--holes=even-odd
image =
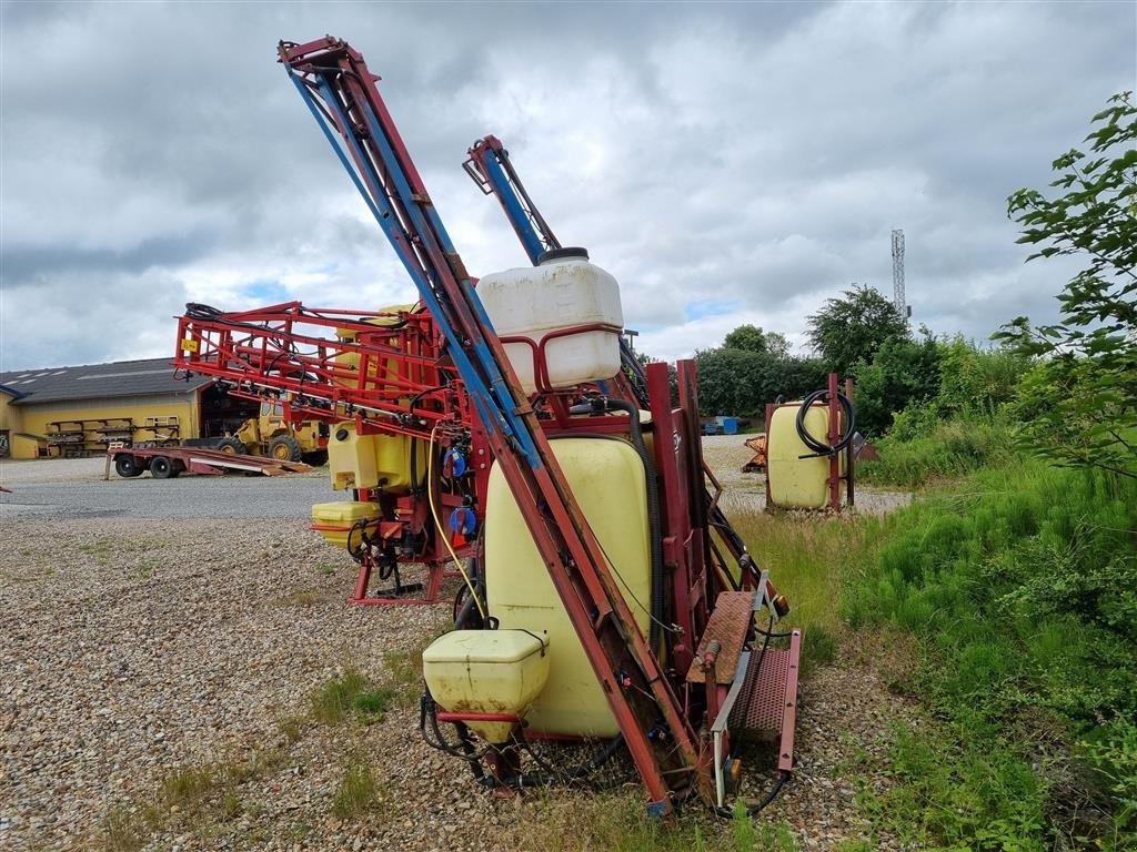
[[(0, 394), (2, 396), (2, 394)], [(97, 437), (99, 424), (85, 423), (80, 426), (77, 421), (114, 420), (118, 418), (130, 418), (136, 427), (143, 427), (147, 418), (177, 418), (177, 431), (169, 429), (147, 429), (136, 428), (133, 432), (133, 440), (156, 441), (161, 437), (184, 440), (198, 436), (198, 394), (166, 394), (158, 396), (119, 396), (110, 399), (92, 399), (59, 402), (41, 402), (39, 404), (28, 400), (23, 406), (10, 407), (19, 412), (18, 428), (11, 427), (10, 433), (19, 432), (32, 435), (41, 441), (41, 444), (49, 444), (48, 435), (56, 432), (50, 426), (52, 421), (72, 421), (75, 425), (67, 425), (65, 429), (84, 428), (90, 438)], [(156, 434), (157, 432), (157, 434)], [(35, 458), (34, 442), (13, 441), (13, 458)], [(101, 445), (105, 449), (105, 444)], [(66, 445), (66, 451), (78, 451), (78, 445)], [(88, 441), (84, 444), (86, 451), (97, 451), (100, 445)], [(52, 448), (52, 456), (61, 454), (64, 449)], [(18, 453), (18, 454), (17, 454)]]

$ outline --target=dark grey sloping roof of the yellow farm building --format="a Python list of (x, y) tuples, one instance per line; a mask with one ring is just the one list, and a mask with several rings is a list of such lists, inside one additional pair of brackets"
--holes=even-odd
[(200, 375), (193, 376), (189, 382), (183, 374), (175, 378), (174, 362), (169, 358), (0, 373), (0, 387), (7, 393), (16, 394), (16, 399), (11, 401), (14, 406), (106, 396), (192, 393), (210, 382), (213, 378)]

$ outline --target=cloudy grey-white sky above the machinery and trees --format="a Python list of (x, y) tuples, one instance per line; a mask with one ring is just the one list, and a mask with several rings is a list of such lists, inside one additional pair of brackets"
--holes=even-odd
[(347, 39), (474, 274), (522, 266), (462, 172), (500, 136), (565, 244), (673, 359), (803, 345), (850, 282), (985, 339), (1054, 316), (1005, 199), (1137, 85), (1137, 3), (2, 2), (0, 370), (173, 354), (186, 301), (379, 308), (413, 287), (275, 61)]

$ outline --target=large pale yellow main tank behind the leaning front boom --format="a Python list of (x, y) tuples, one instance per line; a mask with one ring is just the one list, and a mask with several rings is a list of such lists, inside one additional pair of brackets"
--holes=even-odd
[[(652, 553), (644, 463), (631, 445), (620, 440), (563, 437), (551, 445), (646, 635)], [(496, 467), (490, 473), (484, 535), (490, 615), (500, 620), (501, 628), (549, 637), (548, 682), (525, 716), (530, 728), (546, 734), (615, 736), (619, 726), (607, 699)]]

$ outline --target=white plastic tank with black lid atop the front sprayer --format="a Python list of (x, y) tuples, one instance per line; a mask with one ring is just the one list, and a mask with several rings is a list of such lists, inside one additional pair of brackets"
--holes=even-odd
[[(478, 282), (478, 295), (499, 337), (528, 337), (540, 343), (550, 332), (601, 323), (613, 331), (591, 331), (546, 341), (545, 360), (551, 387), (612, 378), (620, 370), (620, 332), (624, 315), (620, 285), (588, 262), (584, 249), (555, 249), (539, 266), (492, 273)], [(505, 343), (506, 354), (526, 393), (538, 390), (534, 349)]]

